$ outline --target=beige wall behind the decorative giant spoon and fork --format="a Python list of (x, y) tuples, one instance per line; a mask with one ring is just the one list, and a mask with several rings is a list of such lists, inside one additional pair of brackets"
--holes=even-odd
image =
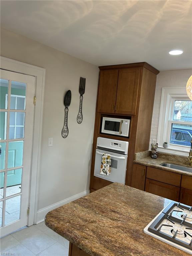
[[(89, 189), (98, 67), (4, 29), (1, 56), (46, 69), (38, 209)], [(86, 77), (86, 90), (79, 125), (80, 76)], [(72, 91), (69, 135), (63, 139), (63, 96), (68, 89)], [(53, 147), (48, 147), (49, 137)]]

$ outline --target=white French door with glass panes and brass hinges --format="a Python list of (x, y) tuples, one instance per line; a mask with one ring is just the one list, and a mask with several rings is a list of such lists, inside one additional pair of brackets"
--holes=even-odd
[(27, 225), (34, 123), (35, 77), (0, 74), (0, 233)]

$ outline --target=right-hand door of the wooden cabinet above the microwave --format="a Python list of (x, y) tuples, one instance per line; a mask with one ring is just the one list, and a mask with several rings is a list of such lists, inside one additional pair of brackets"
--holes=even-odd
[(118, 114), (136, 114), (140, 68), (119, 70), (116, 110)]

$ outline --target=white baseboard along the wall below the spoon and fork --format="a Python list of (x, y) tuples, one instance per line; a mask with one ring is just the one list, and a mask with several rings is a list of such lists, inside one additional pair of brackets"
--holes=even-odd
[(38, 210), (37, 211), (37, 223), (36, 224), (44, 221), (46, 214), (48, 212), (50, 212), (51, 210), (54, 210), (55, 208), (60, 207), (60, 206), (62, 206), (64, 204), (68, 204), (68, 203), (70, 203), (70, 202), (72, 202), (72, 201), (74, 201), (74, 200), (76, 200), (76, 199), (78, 199), (78, 198), (80, 198), (82, 196), (86, 196), (89, 193), (90, 193), (89, 190), (85, 190), (85, 191), (83, 191), (83, 192), (81, 192), (79, 194), (76, 194), (74, 196), (68, 197), (68, 198), (66, 198), (66, 199), (64, 199), (64, 200), (62, 200), (60, 202), (57, 202), (55, 204), (49, 205), (49, 206), (47, 206), (45, 208), (42, 208), (42, 209)]

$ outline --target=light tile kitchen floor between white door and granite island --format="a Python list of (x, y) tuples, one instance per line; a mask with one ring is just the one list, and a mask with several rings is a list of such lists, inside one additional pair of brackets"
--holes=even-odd
[(68, 253), (69, 241), (48, 228), (44, 222), (0, 239), (0, 255), (68, 256)]

